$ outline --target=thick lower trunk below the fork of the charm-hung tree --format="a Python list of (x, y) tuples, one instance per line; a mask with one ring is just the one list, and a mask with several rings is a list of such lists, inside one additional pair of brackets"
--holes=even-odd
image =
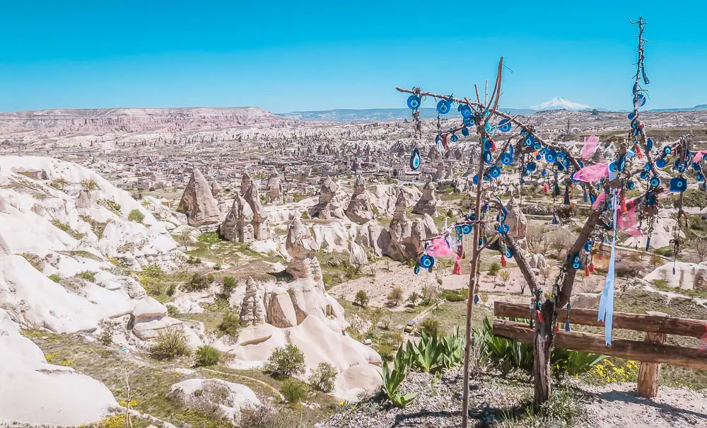
[(550, 398), (550, 352), (554, 339), (552, 330), (552, 315), (554, 312), (554, 301), (547, 300), (540, 309), (542, 313), (542, 323), (537, 316), (535, 318), (535, 340), (533, 342), (533, 376), (534, 376), (534, 398), (533, 406), (539, 407)]

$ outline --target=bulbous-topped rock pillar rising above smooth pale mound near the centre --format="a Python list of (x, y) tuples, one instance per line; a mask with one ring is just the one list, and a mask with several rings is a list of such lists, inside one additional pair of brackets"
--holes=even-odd
[[(316, 282), (322, 282), (322, 267), (314, 254), (318, 250), (317, 243), (298, 217), (292, 221), (287, 230), (285, 248), (292, 258), (287, 266), (289, 274), (296, 279), (314, 279)], [(324, 287), (323, 283), (322, 287)]]

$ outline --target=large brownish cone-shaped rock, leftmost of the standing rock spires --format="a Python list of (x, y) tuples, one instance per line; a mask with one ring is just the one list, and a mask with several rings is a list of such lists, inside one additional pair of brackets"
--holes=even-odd
[(189, 178), (178, 210), (187, 212), (189, 226), (203, 226), (221, 221), (218, 202), (211, 195), (211, 185), (197, 168), (192, 170), (192, 178)]

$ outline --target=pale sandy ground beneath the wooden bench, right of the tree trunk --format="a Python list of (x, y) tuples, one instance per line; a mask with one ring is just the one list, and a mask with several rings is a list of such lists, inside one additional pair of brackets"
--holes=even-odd
[(578, 427), (707, 427), (707, 394), (660, 387), (658, 397), (636, 395), (636, 383), (583, 388), (589, 392), (588, 415)]

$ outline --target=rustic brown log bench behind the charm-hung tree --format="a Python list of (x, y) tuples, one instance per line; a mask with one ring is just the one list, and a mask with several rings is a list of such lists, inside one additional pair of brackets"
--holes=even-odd
[[(529, 319), (530, 309), (527, 304), (523, 303), (496, 301), (493, 305), (493, 315), (504, 318)], [(564, 324), (566, 315), (566, 309), (563, 308), (559, 311), (557, 320), (560, 325)], [(604, 323), (597, 321), (597, 318), (598, 311), (571, 308), (569, 320), (571, 325), (604, 327)], [(644, 397), (658, 395), (660, 364), (707, 370), (707, 352), (700, 352), (691, 347), (665, 345), (667, 335), (703, 337), (707, 332), (707, 321), (705, 320), (672, 318), (665, 313), (658, 312), (645, 315), (614, 312), (613, 328), (645, 332), (645, 340), (612, 337), (612, 345), (607, 346), (604, 335), (579, 331), (566, 332), (560, 328), (555, 333), (554, 346), (641, 362), (641, 369), (638, 371), (638, 393)], [(493, 335), (518, 342), (532, 343), (535, 332), (528, 323), (493, 320)]]

